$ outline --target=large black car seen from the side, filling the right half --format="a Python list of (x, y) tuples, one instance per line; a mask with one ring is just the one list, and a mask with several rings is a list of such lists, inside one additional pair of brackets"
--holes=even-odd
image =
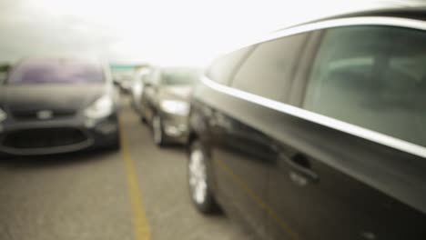
[(188, 185), (263, 239), (426, 239), (426, 9), (339, 15), (224, 55)]

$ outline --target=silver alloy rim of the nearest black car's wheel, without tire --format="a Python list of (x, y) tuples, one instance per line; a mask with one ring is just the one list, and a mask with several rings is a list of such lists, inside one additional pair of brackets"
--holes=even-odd
[(192, 198), (197, 204), (203, 204), (206, 200), (208, 185), (204, 154), (201, 150), (196, 149), (191, 152), (188, 168)]

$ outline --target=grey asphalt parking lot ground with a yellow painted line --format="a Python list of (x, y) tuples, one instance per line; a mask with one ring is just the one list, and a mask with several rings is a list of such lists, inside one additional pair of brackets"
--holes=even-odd
[(0, 161), (0, 239), (250, 239), (190, 203), (184, 149), (153, 144), (122, 102), (121, 151)]

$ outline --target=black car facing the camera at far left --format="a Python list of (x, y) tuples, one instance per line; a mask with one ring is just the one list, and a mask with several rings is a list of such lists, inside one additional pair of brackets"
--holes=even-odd
[(117, 149), (109, 71), (96, 61), (27, 59), (0, 86), (0, 153), (46, 155)]

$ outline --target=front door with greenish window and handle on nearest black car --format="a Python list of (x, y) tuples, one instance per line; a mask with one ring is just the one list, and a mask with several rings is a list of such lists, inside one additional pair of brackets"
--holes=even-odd
[(306, 88), (292, 89), (299, 107), (277, 107), (270, 233), (425, 239), (426, 34), (386, 18), (334, 23), (303, 69)]

